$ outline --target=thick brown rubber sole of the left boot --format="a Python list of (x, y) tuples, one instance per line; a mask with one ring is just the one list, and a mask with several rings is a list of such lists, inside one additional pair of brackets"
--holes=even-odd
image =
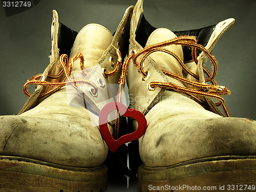
[(108, 167), (62, 166), (28, 158), (0, 156), (0, 191), (101, 192)]

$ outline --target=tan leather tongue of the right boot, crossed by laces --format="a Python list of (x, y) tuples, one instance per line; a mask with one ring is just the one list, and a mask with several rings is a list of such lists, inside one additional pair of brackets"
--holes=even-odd
[[(156, 43), (160, 43), (163, 41), (167, 41), (177, 37), (172, 31), (159, 28), (156, 29), (150, 37), (148, 37), (146, 46), (150, 46)], [(180, 59), (183, 61), (183, 51), (181, 45), (168, 45), (164, 46), (163, 48), (174, 52)], [(183, 77), (182, 75), (182, 67), (180, 66), (179, 62), (172, 56), (164, 52), (154, 52), (150, 55), (150, 57), (156, 62), (157, 66), (166, 71), (170, 71), (176, 75)], [(170, 82), (176, 83), (178, 85), (184, 86), (180, 81), (175, 80), (173, 78), (167, 77)]]

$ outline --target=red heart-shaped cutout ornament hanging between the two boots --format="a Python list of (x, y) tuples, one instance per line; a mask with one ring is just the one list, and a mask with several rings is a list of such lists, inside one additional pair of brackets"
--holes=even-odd
[[(118, 110), (124, 117), (132, 117), (138, 122), (138, 128), (135, 132), (121, 136), (115, 140), (108, 128), (108, 116), (111, 111)], [(106, 104), (99, 113), (99, 129), (100, 132), (109, 146), (110, 150), (114, 153), (121, 145), (126, 142), (139, 139), (146, 131), (147, 122), (145, 116), (136, 109), (127, 109), (125, 105), (119, 102), (111, 102)]]

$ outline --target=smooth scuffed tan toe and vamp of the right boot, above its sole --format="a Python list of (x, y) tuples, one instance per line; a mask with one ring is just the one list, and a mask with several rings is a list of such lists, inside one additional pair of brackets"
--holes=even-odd
[(145, 116), (140, 138), (145, 166), (168, 166), (204, 157), (256, 155), (256, 122), (221, 117), (177, 92), (164, 93)]

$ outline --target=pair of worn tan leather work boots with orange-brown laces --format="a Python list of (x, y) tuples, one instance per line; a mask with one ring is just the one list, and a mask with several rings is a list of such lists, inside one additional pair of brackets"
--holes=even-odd
[[(19, 114), (0, 117), (0, 190), (103, 191), (109, 147), (98, 116), (112, 101), (125, 103), (125, 94), (147, 121), (139, 139), (139, 191), (253, 188), (256, 123), (223, 117), (217, 107), (229, 116), (220, 97), (229, 91), (214, 81), (210, 55), (234, 19), (172, 32), (151, 26), (142, 4), (127, 8), (114, 35), (96, 24), (77, 33), (53, 11), (50, 64), (25, 84), (29, 99)], [(30, 84), (37, 85), (32, 94)], [(125, 125), (110, 113), (115, 139)], [(134, 119), (128, 125), (130, 132), (138, 127)]]

